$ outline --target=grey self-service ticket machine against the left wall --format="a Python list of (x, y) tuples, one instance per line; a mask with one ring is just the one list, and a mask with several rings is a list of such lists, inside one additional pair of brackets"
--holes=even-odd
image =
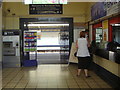
[(3, 68), (20, 67), (20, 30), (3, 30)]

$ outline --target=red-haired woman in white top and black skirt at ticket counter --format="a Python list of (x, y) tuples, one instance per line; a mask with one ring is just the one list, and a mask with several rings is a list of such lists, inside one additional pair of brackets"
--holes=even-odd
[(90, 43), (88, 41), (88, 38), (86, 38), (85, 31), (80, 32), (80, 38), (78, 38), (76, 42), (77, 50), (77, 57), (78, 57), (78, 71), (77, 76), (80, 75), (81, 70), (83, 69), (85, 72), (86, 77), (90, 77), (88, 75), (88, 67), (90, 66), (90, 54), (88, 47), (90, 46)]

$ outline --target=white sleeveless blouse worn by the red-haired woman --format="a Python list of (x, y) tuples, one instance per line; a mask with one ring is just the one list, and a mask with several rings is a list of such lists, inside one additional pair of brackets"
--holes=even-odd
[(78, 51), (77, 57), (87, 57), (90, 56), (87, 46), (87, 39), (86, 38), (78, 38)]

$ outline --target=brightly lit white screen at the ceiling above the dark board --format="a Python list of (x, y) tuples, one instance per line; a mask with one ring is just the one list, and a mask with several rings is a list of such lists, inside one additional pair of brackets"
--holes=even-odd
[(24, 0), (25, 4), (67, 4), (67, 0)]

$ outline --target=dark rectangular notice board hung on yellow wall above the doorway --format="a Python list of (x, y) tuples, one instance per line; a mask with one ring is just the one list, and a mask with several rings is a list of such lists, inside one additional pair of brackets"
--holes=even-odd
[(29, 14), (62, 14), (62, 4), (29, 4)]

